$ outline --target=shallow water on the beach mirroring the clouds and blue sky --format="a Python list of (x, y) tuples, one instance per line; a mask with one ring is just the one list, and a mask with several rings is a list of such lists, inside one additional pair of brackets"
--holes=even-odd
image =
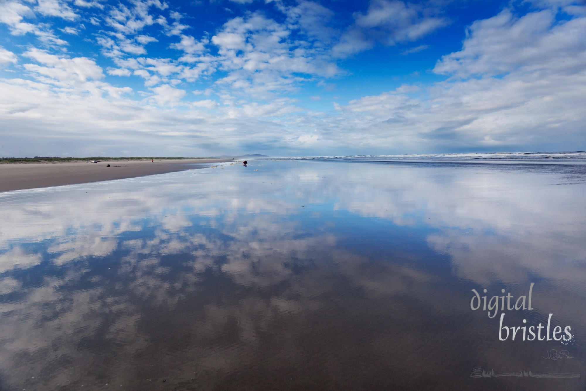
[(2, 193), (0, 389), (583, 390), (585, 174), (258, 160)]

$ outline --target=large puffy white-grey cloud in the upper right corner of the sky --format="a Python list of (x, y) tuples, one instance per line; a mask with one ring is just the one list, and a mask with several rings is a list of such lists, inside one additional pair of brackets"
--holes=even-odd
[[(505, 10), (469, 28), (462, 50), (443, 56), (434, 72), (455, 77), (513, 71), (568, 75), (586, 63), (586, 18), (554, 24), (553, 12), (516, 18)], [(512, 55), (515, 53), (515, 55)]]

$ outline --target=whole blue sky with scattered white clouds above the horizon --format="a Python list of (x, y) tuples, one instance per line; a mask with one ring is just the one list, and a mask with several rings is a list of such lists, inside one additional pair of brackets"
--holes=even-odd
[(0, 0), (0, 156), (586, 149), (583, 1)]

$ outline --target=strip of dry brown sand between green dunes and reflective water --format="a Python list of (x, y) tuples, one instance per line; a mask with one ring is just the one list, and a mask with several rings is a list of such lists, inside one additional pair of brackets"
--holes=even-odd
[[(61, 186), (171, 173), (194, 168), (193, 163), (220, 163), (231, 159), (110, 160), (100, 163), (0, 164), (0, 191)], [(110, 164), (110, 167), (107, 167)], [(121, 167), (114, 167), (121, 166)]]

